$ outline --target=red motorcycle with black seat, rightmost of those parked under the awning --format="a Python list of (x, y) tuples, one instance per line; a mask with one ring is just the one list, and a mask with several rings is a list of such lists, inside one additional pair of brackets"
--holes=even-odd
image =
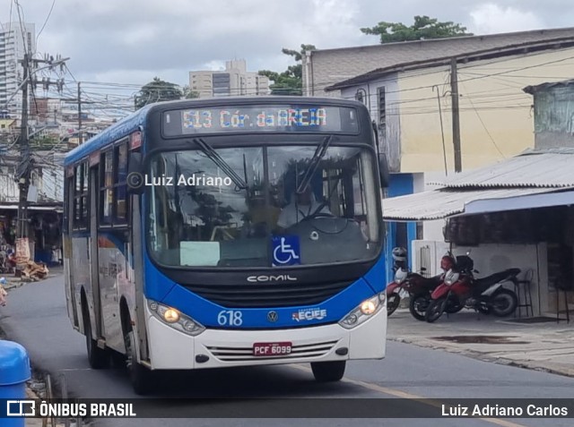
[(502, 285), (517, 283), (520, 269), (506, 269), (486, 278), (474, 278), (474, 260), (468, 255), (457, 256), (455, 265), (448, 269), (444, 281), (431, 294), (431, 303), (425, 320), (438, 320), (449, 304), (472, 308), (484, 314), (504, 317), (513, 313), (518, 304), (517, 295)]

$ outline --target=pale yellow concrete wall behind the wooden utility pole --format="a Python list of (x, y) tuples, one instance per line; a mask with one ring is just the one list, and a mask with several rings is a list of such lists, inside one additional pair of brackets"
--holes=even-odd
[[(533, 148), (533, 99), (522, 88), (571, 78), (572, 69), (574, 48), (459, 64), (463, 170), (493, 164)], [(448, 170), (454, 170), (449, 68), (400, 73), (398, 86), (401, 172), (444, 170), (437, 88)]]

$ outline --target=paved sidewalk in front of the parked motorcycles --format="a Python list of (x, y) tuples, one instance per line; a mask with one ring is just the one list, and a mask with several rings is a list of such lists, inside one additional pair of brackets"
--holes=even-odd
[(388, 318), (388, 339), (574, 377), (574, 322), (517, 323), (463, 310), (434, 323), (399, 309)]

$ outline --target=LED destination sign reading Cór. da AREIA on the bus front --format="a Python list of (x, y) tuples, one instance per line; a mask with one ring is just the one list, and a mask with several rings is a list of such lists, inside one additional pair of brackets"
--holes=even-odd
[(351, 107), (212, 107), (164, 113), (167, 136), (222, 132), (358, 132)]

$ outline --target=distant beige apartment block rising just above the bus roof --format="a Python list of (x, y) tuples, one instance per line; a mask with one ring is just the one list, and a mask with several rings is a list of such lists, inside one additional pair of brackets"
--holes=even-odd
[(269, 79), (247, 71), (245, 59), (225, 62), (224, 71), (189, 72), (189, 87), (199, 98), (268, 95)]

